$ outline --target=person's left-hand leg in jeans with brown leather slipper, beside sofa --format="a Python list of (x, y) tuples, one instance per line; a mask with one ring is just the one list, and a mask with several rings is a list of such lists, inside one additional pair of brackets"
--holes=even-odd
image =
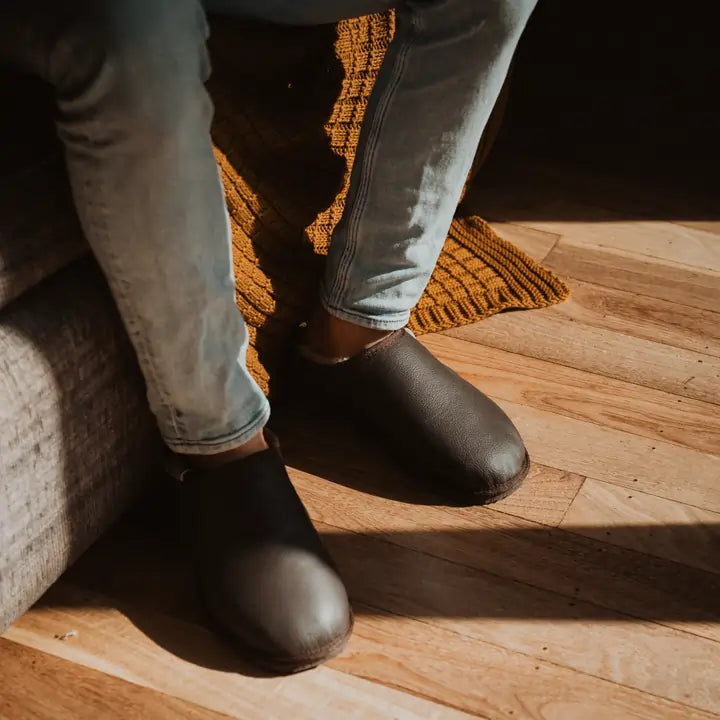
[(182, 475), (200, 594), (256, 662), (291, 672), (340, 652), (352, 613), (277, 445), (258, 437), (268, 402), (244, 364), (206, 34), (197, 0), (0, 7), (0, 55), (55, 88), (77, 210), (164, 439), (206, 460)]

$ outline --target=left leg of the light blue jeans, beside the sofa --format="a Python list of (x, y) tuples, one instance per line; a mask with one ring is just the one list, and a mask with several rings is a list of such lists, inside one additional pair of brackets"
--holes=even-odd
[(198, 0), (29, 4), (19, 27), (34, 45), (15, 55), (56, 89), (77, 210), (161, 433), (183, 453), (235, 447), (269, 406), (245, 368), (204, 10)]

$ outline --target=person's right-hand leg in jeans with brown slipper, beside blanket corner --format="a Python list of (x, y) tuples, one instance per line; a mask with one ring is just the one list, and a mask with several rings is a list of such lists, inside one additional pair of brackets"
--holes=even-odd
[(461, 502), (529, 468), (505, 413), (402, 330), (535, 0), (404, 0), (363, 122), (298, 382)]

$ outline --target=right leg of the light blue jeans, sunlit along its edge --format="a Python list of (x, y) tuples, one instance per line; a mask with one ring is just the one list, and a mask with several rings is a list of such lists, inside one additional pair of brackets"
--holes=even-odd
[(435, 267), (536, 0), (408, 0), (365, 115), (322, 289), (333, 315), (403, 327)]

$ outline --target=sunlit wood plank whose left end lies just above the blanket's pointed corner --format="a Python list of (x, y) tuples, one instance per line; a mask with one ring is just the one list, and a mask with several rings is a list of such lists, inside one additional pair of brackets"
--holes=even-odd
[[(704, 310), (720, 308), (720, 275), (648, 263), (561, 239), (543, 264), (564, 277)], [(572, 283), (571, 283), (572, 285)]]

